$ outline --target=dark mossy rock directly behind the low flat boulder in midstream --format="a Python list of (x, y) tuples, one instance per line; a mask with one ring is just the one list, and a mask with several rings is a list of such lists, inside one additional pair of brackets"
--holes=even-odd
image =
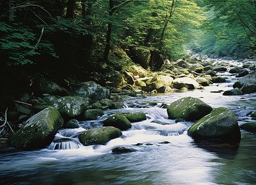
[(103, 122), (103, 126), (113, 126), (121, 131), (125, 131), (131, 128), (131, 123), (123, 114), (115, 113)]

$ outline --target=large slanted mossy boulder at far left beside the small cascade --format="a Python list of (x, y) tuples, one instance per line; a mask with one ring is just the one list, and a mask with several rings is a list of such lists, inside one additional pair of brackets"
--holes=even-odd
[(56, 132), (63, 126), (58, 110), (49, 106), (33, 115), (11, 137), (11, 145), (25, 150), (43, 148), (50, 144)]

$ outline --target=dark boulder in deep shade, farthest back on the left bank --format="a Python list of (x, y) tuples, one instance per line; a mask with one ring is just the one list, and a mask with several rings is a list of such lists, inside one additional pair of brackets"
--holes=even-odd
[(68, 91), (65, 88), (60, 87), (60, 85), (57, 85), (54, 82), (51, 82), (50, 80), (43, 77), (35, 79), (32, 87), (35, 95), (39, 96), (42, 96), (44, 93), (60, 96), (69, 95)]

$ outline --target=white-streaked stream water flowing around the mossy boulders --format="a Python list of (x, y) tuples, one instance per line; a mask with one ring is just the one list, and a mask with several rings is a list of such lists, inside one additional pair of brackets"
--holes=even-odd
[[(218, 61), (220, 62), (220, 61)], [(232, 62), (241, 66), (237, 61)], [(182, 97), (195, 97), (213, 108), (231, 108), (239, 125), (251, 121), (256, 107), (256, 93), (223, 96), (220, 90), (232, 88), (237, 80), (228, 72), (219, 72), (224, 84), (213, 84), (205, 90), (174, 90), (151, 96), (124, 100), (125, 108), (106, 110), (95, 121), (81, 121), (77, 129), (58, 131), (46, 148), (20, 151), (0, 149), (1, 184), (256, 184), (256, 134), (242, 132), (240, 144), (195, 143), (187, 130), (195, 122), (168, 119), (166, 108)], [(219, 93), (216, 93), (219, 92)], [(148, 102), (157, 105), (149, 105)], [(78, 135), (110, 114), (146, 113), (147, 119), (132, 123), (123, 136), (105, 145), (83, 146)], [(170, 143), (164, 144), (162, 142)], [(143, 145), (136, 145), (141, 143)], [(112, 153), (118, 146), (137, 152)]]

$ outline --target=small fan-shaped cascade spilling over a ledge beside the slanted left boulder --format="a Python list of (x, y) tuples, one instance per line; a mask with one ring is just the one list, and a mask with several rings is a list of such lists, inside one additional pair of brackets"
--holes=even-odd
[(70, 138), (61, 138), (57, 140), (53, 140), (49, 145), (50, 150), (68, 150), (74, 148), (80, 148), (80, 143), (74, 139)]

